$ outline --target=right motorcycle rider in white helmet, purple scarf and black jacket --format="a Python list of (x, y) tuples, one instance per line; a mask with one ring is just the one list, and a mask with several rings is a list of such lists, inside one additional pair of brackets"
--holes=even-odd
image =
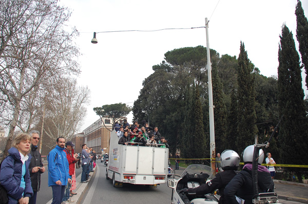
[[(224, 195), (229, 204), (238, 204), (243, 201), (245, 204), (252, 204), (253, 201), (253, 178), (252, 178), (252, 162), (254, 155), (254, 146), (248, 146), (243, 151), (244, 167), (225, 187)], [(261, 166), (264, 159), (264, 152), (259, 151), (258, 157), (258, 191), (259, 193), (274, 192), (274, 182), (271, 174), (266, 167)], [(238, 198), (236, 198), (236, 196)], [(238, 199), (238, 200), (237, 200)]]

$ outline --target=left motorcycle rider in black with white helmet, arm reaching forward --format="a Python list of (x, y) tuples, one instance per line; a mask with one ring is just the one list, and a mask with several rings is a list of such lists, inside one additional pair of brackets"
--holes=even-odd
[(204, 195), (214, 192), (219, 189), (221, 193), (219, 204), (226, 204), (224, 197), (224, 188), (230, 180), (238, 173), (237, 169), (240, 165), (240, 156), (233, 150), (225, 150), (220, 156), (221, 167), (223, 172), (216, 174), (216, 177), (207, 183), (202, 184), (197, 188), (182, 189), (179, 193), (186, 193), (189, 195)]

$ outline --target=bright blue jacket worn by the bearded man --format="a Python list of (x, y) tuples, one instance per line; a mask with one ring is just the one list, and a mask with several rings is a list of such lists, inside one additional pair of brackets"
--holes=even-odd
[(61, 186), (67, 185), (69, 167), (64, 148), (55, 146), (47, 156), (48, 160), (48, 186), (57, 186), (56, 181), (61, 181)]

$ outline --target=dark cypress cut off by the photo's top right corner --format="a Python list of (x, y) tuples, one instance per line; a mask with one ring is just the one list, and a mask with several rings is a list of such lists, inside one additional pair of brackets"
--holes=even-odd
[(297, 1), (295, 10), (296, 15), (296, 38), (299, 43), (299, 52), (302, 57), (302, 63), (306, 73), (306, 87), (308, 88), (308, 21), (305, 17), (301, 2)]

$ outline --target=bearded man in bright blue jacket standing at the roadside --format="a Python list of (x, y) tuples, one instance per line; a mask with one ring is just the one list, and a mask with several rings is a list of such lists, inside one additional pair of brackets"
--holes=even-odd
[(47, 156), (48, 186), (52, 188), (51, 204), (60, 204), (62, 202), (67, 182), (72, 182), (69, 177), (69, 167), (64, 147), (65, 138), (58, 137), (55, 148)]

